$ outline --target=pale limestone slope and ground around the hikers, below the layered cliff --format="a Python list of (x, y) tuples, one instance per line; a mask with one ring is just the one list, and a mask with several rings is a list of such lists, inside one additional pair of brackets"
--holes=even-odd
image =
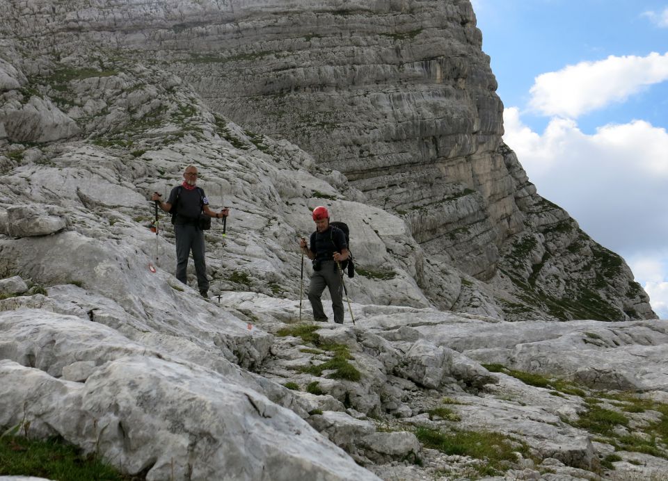
[[(10, 3), (17, 22), (40, 5)], [(484, 282), (168, 70), (2, 44), (2, 432), (58, 435), (150, 480), (666, 479), (666, 322), (632, 320), (653, 315), (626, 265), (534, 195), (511, 152), (527, 225), (557, 227), (518, 234)], [(232, 212), (206, 234), (210, 300), (193, 272), (174, 279), (168, 218), (148, 229), (150, 193), (189, 163)], [(342, 327), (300, 309), (296, 239), (319, 204), (353, 232)], [(563, 295), (568, 276), (628, 294), (592, 308), (619, 322), (559, 322), (572, 306), (540, 311), (510, 280)]]

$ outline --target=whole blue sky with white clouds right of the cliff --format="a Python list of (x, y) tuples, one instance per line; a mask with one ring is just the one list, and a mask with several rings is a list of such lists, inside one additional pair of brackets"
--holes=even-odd
[(668, 319), (668, 0), (472, 0), (504, 140)]

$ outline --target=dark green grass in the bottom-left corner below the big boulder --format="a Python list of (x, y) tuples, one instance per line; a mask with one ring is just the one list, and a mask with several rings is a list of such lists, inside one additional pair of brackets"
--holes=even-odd
[(107, 464), (58, 439), (37, 441), (0, 437), (0, 475), (35, 476), (58, 481), (129, 480)]

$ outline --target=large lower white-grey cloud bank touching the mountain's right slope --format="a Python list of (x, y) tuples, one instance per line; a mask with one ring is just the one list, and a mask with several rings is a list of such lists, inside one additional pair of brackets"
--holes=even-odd
[(504, 141), (538, 192), (566, 209), (595, 241), (621, 254), (652, 308), (668, 319), (668, 132), (649, 122), (591, 135), (553, 118), (543, 133), (518, 108), (504, 111)]

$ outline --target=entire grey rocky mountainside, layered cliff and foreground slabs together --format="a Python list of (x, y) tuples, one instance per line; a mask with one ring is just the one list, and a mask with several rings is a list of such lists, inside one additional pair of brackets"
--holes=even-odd
[[(665, 322), (500, 143), (468, 1), (30, 0), (0, 17), (3, 432), (152, 480), (668, 471)], [(453, 83), (436, 65), (454, 63)], [(251, 95), (278, 65), (289, 94)], [(356, 88), (369, 103), (347, 110)], [(265, 115), (283, 97), (294, 110)], [(189, 163), (232, 211), (206, 234), (210, 301), (174, 279), (168, 218), (147, 228), (150, 193)], [(300, 322), (296, 238), (319, 204), (353, 231), (355, 325)], [(572, 318), (594, 320), (555, 322)]]

